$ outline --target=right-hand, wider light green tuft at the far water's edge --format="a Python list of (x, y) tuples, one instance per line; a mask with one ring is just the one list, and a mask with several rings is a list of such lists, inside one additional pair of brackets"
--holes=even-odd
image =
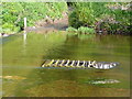
[(87, 28), (87, 26), (80, 26), (78, 29), (78, 32), (82, 33), (82, 34), (94, 34), (94, 33), (96, 33), (94, 29)]

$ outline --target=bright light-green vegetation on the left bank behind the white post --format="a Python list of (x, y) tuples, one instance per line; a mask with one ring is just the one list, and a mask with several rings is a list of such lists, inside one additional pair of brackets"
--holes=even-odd
[(65, 2), (2, 2), (2, 7), (0, 32), (4, 33), (23, 30), (23, 18), (28, 18), (28, 26), (32, 26), (42, 19), (61, 19), (67, 11)]

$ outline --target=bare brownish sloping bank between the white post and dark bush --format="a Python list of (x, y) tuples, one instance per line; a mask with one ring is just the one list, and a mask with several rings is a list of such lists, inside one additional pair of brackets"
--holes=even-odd
[(47, 33), (52, 31), (66, 31), (68, 28), (68, 14), (64, 13), (62, 19), (41, 20), (34, 26), (28, 26), (26, 32)]

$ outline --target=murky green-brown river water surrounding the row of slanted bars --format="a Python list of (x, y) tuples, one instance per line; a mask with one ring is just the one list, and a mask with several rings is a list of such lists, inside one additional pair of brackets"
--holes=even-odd
[[(129, 96), (129, 40), (119, 35), (31, 33), (24, 45), (23, 36), (7, 37), (3, 40), (3, 96)], [(52, 58), (119, 62), (120, 66), (110, 70), (38, 68), (44, 59)]]

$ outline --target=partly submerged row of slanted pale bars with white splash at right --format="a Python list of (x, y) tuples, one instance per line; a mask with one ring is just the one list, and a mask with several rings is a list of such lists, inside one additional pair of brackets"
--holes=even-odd
[(70, 68), (97, 68), (110, 69), (119, 65), (112, 62), (96, 62), (96, 61), (69, 61), (69, 59), (46, 59), (42, 67), (70, 67)]

